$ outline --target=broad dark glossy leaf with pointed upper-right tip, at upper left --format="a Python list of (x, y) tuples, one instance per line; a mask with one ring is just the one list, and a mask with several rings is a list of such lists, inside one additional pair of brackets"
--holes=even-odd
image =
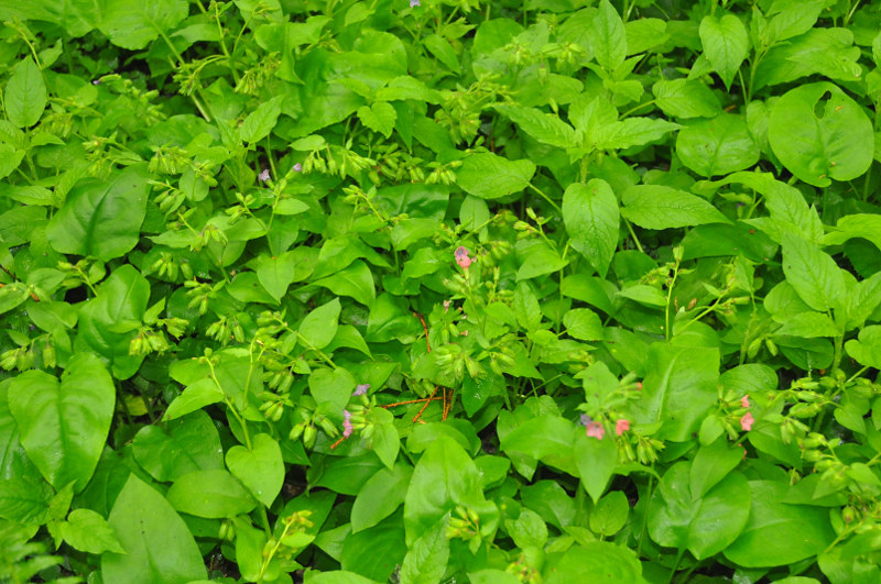
[(109, 180), (79, 180), (48, 222), (52, 246), (104, 262), (130, 252), (146, 217), (149, 177), (146, 166), (139, 164), (113, 173)]

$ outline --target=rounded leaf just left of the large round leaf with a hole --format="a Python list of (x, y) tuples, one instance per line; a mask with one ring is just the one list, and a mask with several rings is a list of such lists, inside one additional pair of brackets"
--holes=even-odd
[(676, 155), (695, 173), (710, 177), (752, 166), (760, 152), (747, 122), (721, 113), (685, 126), (676, 137)]

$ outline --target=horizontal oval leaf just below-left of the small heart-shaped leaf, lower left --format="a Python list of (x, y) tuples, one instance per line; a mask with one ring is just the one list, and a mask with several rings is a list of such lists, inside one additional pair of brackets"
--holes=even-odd
[(244, 486), (224, 470), (187, 473), (174, 482), (166, 498), (178, 511), (208, 519), (235, 517), (257, 506)]

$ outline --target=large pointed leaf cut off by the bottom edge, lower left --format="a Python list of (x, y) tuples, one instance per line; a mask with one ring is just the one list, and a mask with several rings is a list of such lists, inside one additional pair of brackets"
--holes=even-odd
[(133, 473), (108, 522), (126, 553), (101, 555), (104, 582), (186, 584), (208, 576), (186, 524), (162, 495)]

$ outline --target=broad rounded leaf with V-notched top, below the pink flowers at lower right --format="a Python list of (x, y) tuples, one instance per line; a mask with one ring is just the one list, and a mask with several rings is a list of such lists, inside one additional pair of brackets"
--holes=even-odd
[(703, 496), (689, 488), (690, 462), (674, 464), (661, 478), (649, 506), (649, 533), (661, 546), (686, 548), (703, 560), (725, 550), (750, 515), (747, 478), (730, 472)]

